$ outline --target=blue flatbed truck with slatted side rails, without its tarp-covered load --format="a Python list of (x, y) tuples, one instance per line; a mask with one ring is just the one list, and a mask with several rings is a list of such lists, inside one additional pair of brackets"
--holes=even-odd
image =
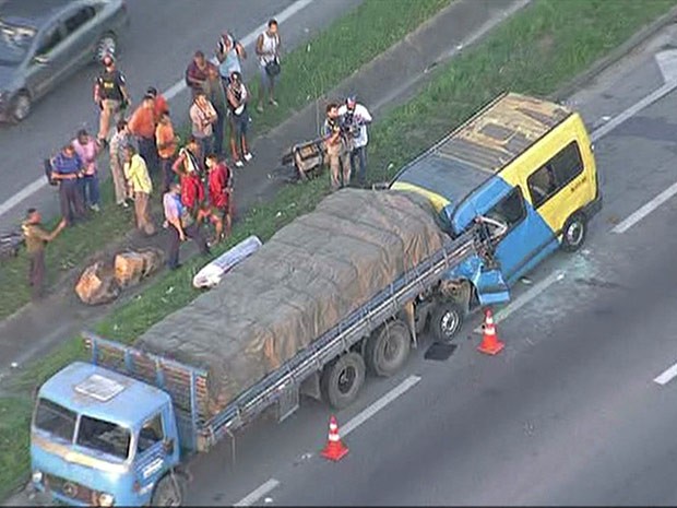
[[(284, 420), (298, 407), (301, 392), (319, 398), (312, 387), (328, 369), (341, 369), (343, 358), (370, 354), (381, 375), (404, 365), (424, 315), (444, 302), (437, 294), (442, 275), (478, 252), (490, 262), (491, 239), (503, 231), (495, 222), (478, 222), (449, 239), (213, 417), (206, 416), (205, 371), (83, 333), (91, 363), (69, 365), (38, 391), (31, 438), (33, 487), (70, 505), (180, 505), (190, 456), (233, 437), (266, 410), (276, 409)], [(409, 305), (417, 324), (403, 317)], [(397, 353), (373, 362), (384, 336)], [(354, 399), (364, 374), (349, 382)]]

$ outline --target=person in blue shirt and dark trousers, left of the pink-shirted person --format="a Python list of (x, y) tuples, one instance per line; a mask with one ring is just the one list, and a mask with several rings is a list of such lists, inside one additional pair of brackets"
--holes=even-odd
[(59, 182), (61, 216), (69, 225), (75, 218), (84, 218), (85, 208), (79, 181), (84, 164), (72, 144), (63, 146), (61, 152), (51, 160), (51, 167), (54, 169), (51, 177)]

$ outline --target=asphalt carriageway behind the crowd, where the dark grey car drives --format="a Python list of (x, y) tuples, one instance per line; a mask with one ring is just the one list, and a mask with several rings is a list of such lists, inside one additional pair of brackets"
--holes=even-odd
[[(326, 27), (361, 0), (310, 0), (304, 9), (281, 22), (285, 50)], [(297, 2), (294, 0), (134, 0), (128, 2), (131, 25), (121, 37), (118, 68), (126, 74), (132, 99), (141, 99), (146, 87), (166, 91), (181, 81), (197, 49), (212, 55), (224, 29), (239, 38)], [(251, 73), (253, 50), (245, 67)], [(56, 214), (58, 201), (51, 188), (41, 188), (10, 210), (8, 200), (26, 186), (44, 178), (41, 161), (72, 139), (78, 129), (95, 131), (98, 111), (92, 102), (97, 68), (84, 68), (35, 105), (20, 126), (0, 126), (0, 231), (17, 224), (27, 206), (38, 205), (46, 215)], [(134, 105), (132, 105), (133, 107)], [(188, 93), (170, 101), (175, 118), (187, 118)], [(176, 120), (175, 120), (176, 121)], [(106, 169), (106, 168), (104, 168)]]

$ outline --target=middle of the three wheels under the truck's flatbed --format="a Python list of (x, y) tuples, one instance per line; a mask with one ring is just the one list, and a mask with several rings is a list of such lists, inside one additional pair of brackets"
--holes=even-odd
[(400, 320), (385, 323), (367, 339), (367, 367), (377, 376), (392, 376), (402, 368), (411, 348), (412, 334), (407, 326)]

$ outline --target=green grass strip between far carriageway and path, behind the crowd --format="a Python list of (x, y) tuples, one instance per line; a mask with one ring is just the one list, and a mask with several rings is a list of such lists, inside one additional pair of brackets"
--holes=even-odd
[[(283, 122), (294, 111), (333, 88), (450, 1), (365, 0), (306, 45), (284, 55), (283, 75), (276, 93), (280, 107), (269, 107), (262, 115), (252, 108), (252, 134)], [(256, 58), (253, 51), (249, 58)], [(258, 74), (251, 82), (256, 96)], [(188, 131), (186, 128), (178, 130)], [(64, 231), (47, 249), (48, 286), (74, 267), (82, 265), (100, 246), (134, 227), (133, 212), (114, 205), (110, 180), (102, 185), (102, 203), (103, 213)], [(159, 208), (159, 196), (155, 196), (154, 203)], [(54, 227), (56, 222), (49, 225)], [(31, 300), (26, 284), (27, 263), (25, 251), (22, 251), (16, 259), (3, 260), (0, 267), (0, 319)]]

